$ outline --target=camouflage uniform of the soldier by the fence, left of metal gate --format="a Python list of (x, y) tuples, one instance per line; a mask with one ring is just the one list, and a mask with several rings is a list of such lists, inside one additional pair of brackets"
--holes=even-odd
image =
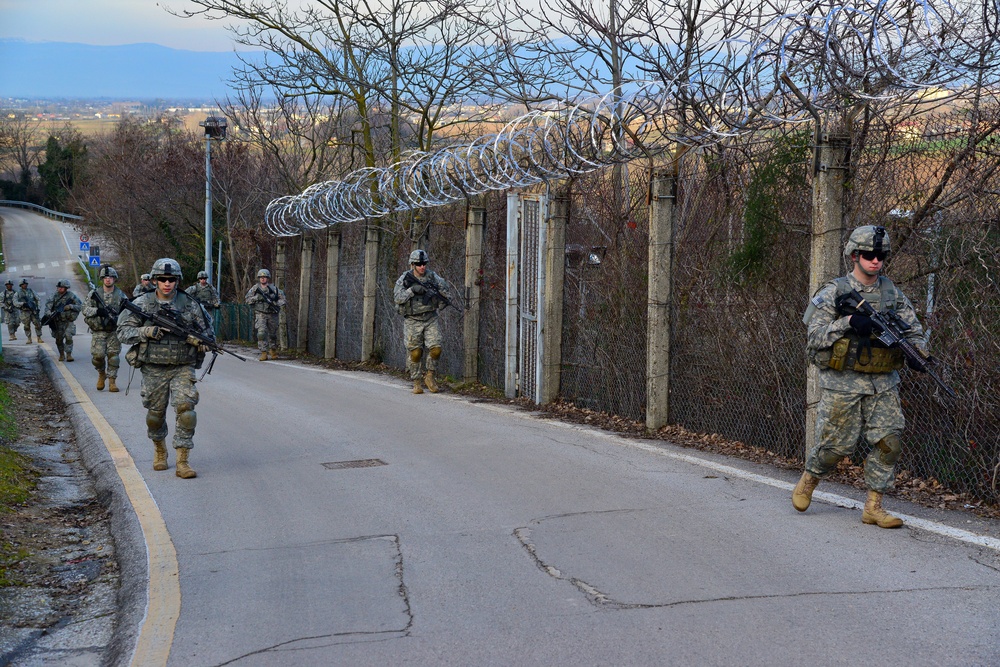
[[(432, 285), (446, 298), (448, 283), (430, 269), (423, 278), (418, 278), (411, 270), (396, 280), (392, 290), (393, 301), (403, 315), (403, 342), (409, 353), (406, 356), (406, 369), (410, 372), (410, 379), (416, 381), (425, 375), (425, 368), (432, 373), (437, 370), (437, 358), (443, 341), (438, 310), (444, 308), (446, 304), (427, 292), (414, 294), (412, 285), (404, 287), (404, 282), (410, 282), (407, 280), (408, 275), (421, 285)], [(436, 348), (436, 352), (425, 355), (423, 354), (425, 347), (432, 351)]]

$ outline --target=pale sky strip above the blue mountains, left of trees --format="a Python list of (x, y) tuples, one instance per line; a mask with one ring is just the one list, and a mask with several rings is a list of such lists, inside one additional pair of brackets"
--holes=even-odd
[(163, 9), (184, 0), (0, 0), (0, 38), (118, 45), (150, 42), (192, 51), (232, 51), (221, 21), (181, 19)]

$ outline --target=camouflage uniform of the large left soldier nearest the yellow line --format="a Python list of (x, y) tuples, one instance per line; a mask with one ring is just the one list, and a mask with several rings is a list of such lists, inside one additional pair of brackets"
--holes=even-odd
[[(208, 314), (197, 301), (183, 292), (174, 292), (172, 297), (169, 302), (160, 303), (155, 292), (147, 292), (133, 303), (146, 313), (170, 307), (180, 313), (191, 329), (214, 338)], [(197, 425), (194, 408), (198, 404), (194, 371), (201, 366), (204, 354), (185, 338), (172, 333), (164, 334), (159, 340), (147, 339), (140, 328), (148, 326), (155, 325), (129, 310), (122, 310), (118, 316), (118, 340), (137, 347), (133, 365), (142, 372), (141, 396), (142, 406), (146, 408), (147, 435), (154, 442), (166, 439), (169, 401), (176, 413), (173, 446), (175, 449), (191, 449)], [(126, 357), (131, 359), (131, 350)]]

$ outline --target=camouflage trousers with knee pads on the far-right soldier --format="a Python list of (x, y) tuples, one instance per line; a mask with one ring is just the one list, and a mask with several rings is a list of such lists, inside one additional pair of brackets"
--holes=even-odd
[(902, 433), (906, 422), (894, 387), (875, 395), (823, 390), (816, 408), (816, 445), (806, 457), (806, 471), (826, 477), (845, 456), (854, 453), (858, 438), (872, 445), (865, 459), (865, 484), (880, 493), (892, 488), (898, 451), (876, 446), (886, 436)]

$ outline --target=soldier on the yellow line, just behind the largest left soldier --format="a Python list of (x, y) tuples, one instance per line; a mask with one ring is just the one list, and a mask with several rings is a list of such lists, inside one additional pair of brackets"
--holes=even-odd
[(97, 390), (104, 389), (107, 380), (108, 391), (118, 391), (118, 367), (121, 364), (121, 341), (118, 340), (118, 315), (122, 311), (122, 301), (128, 295), (118, 289), (118, 272), (105, 266), (100, 272), (101, 286), (87, 295), (83, 309), (83, 319), (94, 333), (90, 341), (90, 362), (97, 369)]

